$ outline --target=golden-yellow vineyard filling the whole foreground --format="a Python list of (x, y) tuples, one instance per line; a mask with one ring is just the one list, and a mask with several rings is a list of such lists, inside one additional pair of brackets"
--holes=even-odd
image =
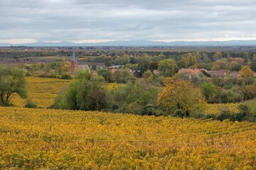
[(0, 107), (0, 169), (256, 169), (256, 124)]

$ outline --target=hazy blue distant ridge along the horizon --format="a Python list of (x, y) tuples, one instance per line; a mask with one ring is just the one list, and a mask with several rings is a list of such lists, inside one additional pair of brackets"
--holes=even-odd
[(175, 41), (175, 42), (164, 42), (164, 41), (150, 41), (150, 40), (116, 40), (108, 42), (84, 42), (74, 43), (69, 41), (62, 42), (44, 42), (37, 41), (33, 43), (24, 44), (11, 44), (11, 43), (0, 43), (0, 47), (10, 46), (27, 46), (27, 47), (73, 47), (73, 46), (130, 46), (130, 47), (154, 47), (154, 46), (245, 46), (245, 45), (256, 45), (256, 40), (228, 40), (228, 41)]

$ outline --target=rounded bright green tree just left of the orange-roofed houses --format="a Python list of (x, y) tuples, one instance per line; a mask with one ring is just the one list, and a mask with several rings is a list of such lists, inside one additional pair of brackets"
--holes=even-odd
[(177, 64), (173, 59), (166, 59), (159, 62), (159, 72), (164, 77), (172, 77), (177, 72)]

